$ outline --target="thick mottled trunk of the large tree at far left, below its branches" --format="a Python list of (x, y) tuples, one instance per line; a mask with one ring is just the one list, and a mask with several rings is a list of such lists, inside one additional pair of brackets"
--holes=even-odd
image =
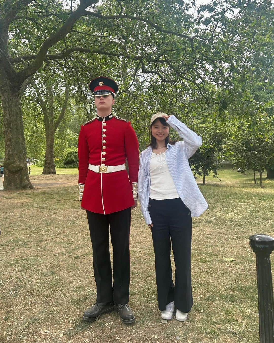
[(28, 176), (23, 130), (20, 88), (2, 87), (3, 128), (5, 140), (4, 189), (34, 189)]

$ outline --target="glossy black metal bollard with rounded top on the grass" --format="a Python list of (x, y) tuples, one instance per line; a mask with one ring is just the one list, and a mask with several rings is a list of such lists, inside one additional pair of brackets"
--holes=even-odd
[(257, 234), (249, 237), (249, 245), (256, 253), (260, 343), (274, 342), (274, 300), (270, 254), (274, 238)]

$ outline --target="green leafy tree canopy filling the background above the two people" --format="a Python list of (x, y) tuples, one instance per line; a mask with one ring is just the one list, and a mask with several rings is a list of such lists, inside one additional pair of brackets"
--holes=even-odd
[[(0, 12), (7, 13), (11, 3), (15, 1), (4, 1)], [(60, 111), (61, 75), (71, 83), (73, 94), (54, 134), (55, 163), (62, 164), (67, 149), (77, 146), (80, 125), (94, 117), (88, 83), (99, 75), (118, 81), (113, 112), (132, 122), (140, 150), (148, 143), (149, 119), (157, 111), (175, 114), (202, 136), (203, 145), (191, 159), (197, 174), (213, 171), (217, 176), (224, 156), (246, 168), (248, 145), (262, 151), (270, 144), (273, 130), (264, 127), (274, 127), (273, 4), (214, 0), (195, 6), (194, 1), (175, 0), (98, 1), (89, 8), (93, 14), (80, 17), (63, 39), (49, 46), (34, 77), (43, 100), (50, 85), (54, 101), (47, 106)], [(11, 58), (18, 57), (11, 62), (14, 69), (31, 66), (32, 59), (19, 57), (37, 54), (69, 16), (59, 0), (32, 2), (20, 9), (3, 49)], [(90, 52), (76, 49), (59, 59), (74, 47)], [(28, 88), (22, 98), (26, 150), (39, 158), (45, 155), (45, 131), (41, 109), (33, 100)], [(258, 112), (263, 113), (261, 122), (253, 120)], [(0, 157), (2, 137), (0, 116)], [(271, 149), (266, 153), (267, 163), (274, 165)]]

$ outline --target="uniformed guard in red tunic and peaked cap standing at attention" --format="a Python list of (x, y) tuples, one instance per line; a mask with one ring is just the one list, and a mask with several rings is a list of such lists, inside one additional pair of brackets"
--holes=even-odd
[[(78, 141), (79, 189), (86, 210), (93, 252), (96, 304), (84, 312), (93, 321), (118, 312), (123, 323), (135, 322), (129, 301), (129, 230), (137, 206), (138, 140), (130, 122), (112, 114), (117, 83), (99, 77), (90, 82), (97, 116), (81, 126)], [(128, 173), (125, 161), (128, 163)], [(113, 247), (113, 283), (109, 251)]]

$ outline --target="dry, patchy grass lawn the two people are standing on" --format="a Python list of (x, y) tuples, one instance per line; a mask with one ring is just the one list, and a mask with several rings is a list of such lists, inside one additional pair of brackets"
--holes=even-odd
[[(31, 168), (38, 182), (42, 168)], [(57, 169), (63, 171), (77, 174)], [(259, 342), (249, 236), (274, 235), (274, 181), (264, 174), (260, 188), (253, 172), (241, 175), (230, 167), (219, 176), (207, 177), (206, 186), (197, 180), (209, 208), (193, 218), (194, 305), (186, 322), (173, 318), (167, 324), (160, 321), (152, 238), (139, 206), (130, 233), (129, 305), (136, 323), (125, 326), (114, 312), (87, 323), (82, 315), (95, 303), (96, 285), (77, 175), (70, 176), (72, 186), (0, 192), (0, 342)], [(225, 260), (231, 257), (235, 261)]]

